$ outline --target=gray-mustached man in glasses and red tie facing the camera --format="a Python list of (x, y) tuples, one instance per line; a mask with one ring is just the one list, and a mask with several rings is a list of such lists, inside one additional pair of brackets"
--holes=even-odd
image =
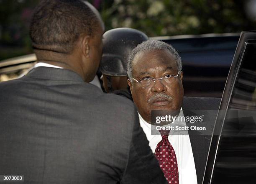
[[(166, 180), (175, 184), (200, 184), (220, 100), (183, 97), (182, 76), (180, 56), (167, 43), (145, 41), (129, 56), (128, 84), (133, 101), (138, 108), (141, 127)], [(151, 110), (169, 110), (178, 117), (193, 117), (193, 111), (205, 110), (211, 114), (207, 117), (210, 122), (202, 124), (208, 133), (199, 135), (200, 132), (188, 129), (178, 135), (170, 130), (154, 134), (157, 126), (151, 122)], [(215, 112), (210, 113), (212, 110)], [(181, 123), (188, 127), (192, 125), (187, 121)]]

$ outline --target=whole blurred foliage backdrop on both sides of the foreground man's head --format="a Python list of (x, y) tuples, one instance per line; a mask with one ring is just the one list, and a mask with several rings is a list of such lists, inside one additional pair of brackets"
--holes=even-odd
[[(0, 60), (33, 53), (29, 22), (39, 0), (0, 0)], [(256, 30), (256, 0), (89, 0), (106, 31), (130, 27), (148, 36)], [(251, 4), (250, 4), (251, 3)], [(253, 9), (254, 8), (254, 9)]]

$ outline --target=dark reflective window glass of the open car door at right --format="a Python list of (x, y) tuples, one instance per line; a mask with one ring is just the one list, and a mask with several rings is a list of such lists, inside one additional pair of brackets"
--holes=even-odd
[(212, 184), (256, 182), (256, 43), (246, 43), (225, 117)]

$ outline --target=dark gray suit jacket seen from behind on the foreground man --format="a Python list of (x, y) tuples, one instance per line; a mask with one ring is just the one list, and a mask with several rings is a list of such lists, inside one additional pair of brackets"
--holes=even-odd
[(0, 174), (26, 184), (166, 182), (131, 100), (67, 69), (0, 83)]

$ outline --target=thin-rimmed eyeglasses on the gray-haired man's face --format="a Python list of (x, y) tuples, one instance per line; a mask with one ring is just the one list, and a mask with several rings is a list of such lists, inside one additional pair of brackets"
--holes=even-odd
[[(163, 85), (165, 85), (165, 86), (166, 86), (166, 85), (172, 85), (172, 84), (174, 83), (174, 79), (179, 76), (179, 73), (180, 73), (180, 72), (178, 72), (177, 75), (167, 74), (167, 75), (165, 75), (164, 77), (161, 77), (161, 78), (158, 78), (158, 79), (159, 79), (159, 80), (161, 81), (161, 83), (162, 83)], [(133, 78), (133, 79), (134, 79), (134, 78)], [(152, 77), (152, 78), (151, 78), (151, 77), (148, 77), (148, 78), (146, 78), (146, 79), (141, 79), (141, 80), (139, 80), (139, 81), (137, 81), (136, 79), (134, 79), (134, 80), (135, 80), (137, 83), (139, 83), (142, 88), (148, 88), (148, 87), (153, 87), (153, 86), (154, 86), (154, 83), (155, 83), (156, 80), (158, 80), (158, 79), (154, 79), (153, 77)], [(153, 83), (153, 81), (154, 81), (154, 83)]]

